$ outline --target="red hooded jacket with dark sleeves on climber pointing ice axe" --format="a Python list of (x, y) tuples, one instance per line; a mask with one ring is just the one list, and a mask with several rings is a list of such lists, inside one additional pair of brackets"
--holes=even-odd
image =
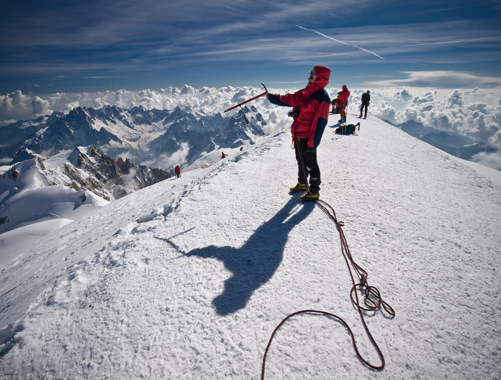
[(271, 103), (278, 106), (293, 107), (294, 111), (299, 110), (299, 116), (294, 118), (291, 132), (294, 139), (308, 138), (308, 150), (315, 152), (322, 134), (327, 126), (331, 100), (325, 87), (329, 83), (331, 69), (325, 66), (315, 66), (317, 80), (315, 83), (308, 83), (305, 89), (294, 94), (269, 94)]

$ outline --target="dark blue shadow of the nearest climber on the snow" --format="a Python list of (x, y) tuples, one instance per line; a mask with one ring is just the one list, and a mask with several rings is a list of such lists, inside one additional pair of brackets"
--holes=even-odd
[(240, 247), (216, 247), (193, 249), (186, 256), (216, 258), (233, 275), (224, 281), (224, 290), (212, 304), (219, 315), (227, 315), (245, 307), (253, 292), (268, 282), (284, 256), (284, 249), (291, 230), (304, 220), (315, 205), (299, 205), (291, 198), (268, 222), (263, 223)]

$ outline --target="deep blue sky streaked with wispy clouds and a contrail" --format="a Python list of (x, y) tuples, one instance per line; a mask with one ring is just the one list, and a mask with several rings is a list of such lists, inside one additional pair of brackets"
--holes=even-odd
[(4, 0), (0, 94), (501, 85), (501, 1)]

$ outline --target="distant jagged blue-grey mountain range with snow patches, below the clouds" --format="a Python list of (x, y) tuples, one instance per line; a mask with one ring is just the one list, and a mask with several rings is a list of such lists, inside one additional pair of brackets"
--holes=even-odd
[[(202, 152), (216, 147), (236, 148), (255, 144), (266, 126), (254, 106), (223, 117), (220, 113), (182, 110), (147, 110), (142, 106), (123, 110), (117, 106), (100, 109), (77, 107), (68, 114), (54, 112), (36, 120), (18, 121), (0, 127), (0, 159), (13, 157), (11, 164), (51, 156), (79, 146), (97, 146), (110, 157), (127, 156), (140, 165), (173, 169), (193, 164)], [(177, 154), (182, 152), (182, 154)], [(174, 156), (174, 157), (173, 157)]]

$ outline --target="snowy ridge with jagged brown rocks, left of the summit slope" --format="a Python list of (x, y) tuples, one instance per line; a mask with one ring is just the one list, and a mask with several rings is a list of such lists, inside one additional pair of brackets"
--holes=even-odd
[(95, 146), (37, 155), (0, 171), (0, 260), (95, 209), (174, 173), (106, 156)]

